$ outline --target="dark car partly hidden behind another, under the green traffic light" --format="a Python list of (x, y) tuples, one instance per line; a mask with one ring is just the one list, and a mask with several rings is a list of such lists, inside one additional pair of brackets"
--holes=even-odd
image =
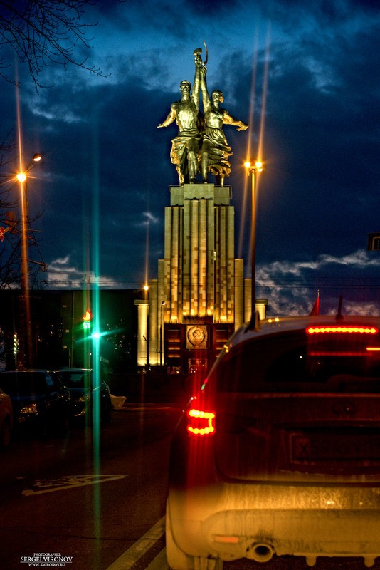
[(75, 418), (94, 417), (95, 410), (98, 409), (100, 420), (103, 423), (111, 421), (110, 388), (102, 378), (95, 380), (93, 370), (90, 368), (63, 368), (56, 373), (70, 390)]

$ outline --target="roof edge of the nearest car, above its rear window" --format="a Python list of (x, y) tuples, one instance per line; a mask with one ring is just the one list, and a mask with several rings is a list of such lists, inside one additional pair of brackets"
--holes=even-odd
[(287, 331), (302, 331), (308, 326), (376, 326), (380, 328), (380, 316), (363, 316), (363, 315), (320, 315), (320, 316), (292, 316), (292, 317), (273, 317), (264, 321), (259, 321), (256, 328), (250, 328), (247, 324), (238, 328), (226, 343), (226, 348), (231, 349), (240, 343), (260, 338), (270, 334), (276, 334)]

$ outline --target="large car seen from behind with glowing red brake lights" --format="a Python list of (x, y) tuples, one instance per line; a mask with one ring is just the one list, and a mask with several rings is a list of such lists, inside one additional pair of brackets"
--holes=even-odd
[[(231, 336), (171, 442), (167, 561), (380, 556), (380, 318), (273, 318)], [(277, 558), (277, 559), (276, 559)], [(297, 568), (300, 566), (297, 566)]]

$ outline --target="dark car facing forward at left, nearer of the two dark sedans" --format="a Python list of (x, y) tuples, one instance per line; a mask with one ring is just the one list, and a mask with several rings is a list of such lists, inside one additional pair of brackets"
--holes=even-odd
[(14, 426), (24, 432), (65, 435), (73, 404), (58, 375), (49, 370), (0, 373), (0, 385), (11, 398)]

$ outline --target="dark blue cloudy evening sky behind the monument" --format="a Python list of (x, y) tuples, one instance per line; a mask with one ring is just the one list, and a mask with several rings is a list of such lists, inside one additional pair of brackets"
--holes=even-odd
[[(247, 177), (264, 98), (257, 211), (258, 296), (270, 314), (321, 309), (379, 314), (380, 256), (366, 251), (380, 231), (380, 9), (363, 0), (145, 0), (97, 3), (86, 13), (93, 49), (83, 55), (106, 78), (50, 66), (36, 90), (21, 78), (24, 162), (33, 152), (29, 201), (43, 212), (39, 247), (51, 287), (139, 288), (163, 257), (164, 207), (176, 170), (176, 125), (157, 130), (179, 82), (193, 81), (194, 48), (209, 47), (208, 85), (223, 107), (250, 123), (225, 126), (232, 147), (236, 257), (250, 276)], [(14, 57), (3, 52), (13, 76)], [(14, 86), (1, 81), (0, 132), (16, 130)], [(16, 167), (17, 160), (15, 161)], [(2, 172), (11, 171), (11, 165)]]

